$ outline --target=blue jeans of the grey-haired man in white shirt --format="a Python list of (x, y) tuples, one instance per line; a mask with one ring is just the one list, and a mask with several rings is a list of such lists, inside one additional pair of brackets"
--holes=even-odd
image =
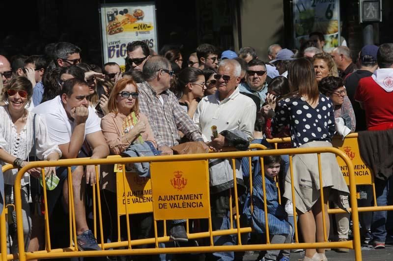
[[(230, 229), (229, 215), (230, 215), (229, 210), (227, 211), (225, 217), (217, 217), (216, 215), (212, 215), (213, 230)], [(233, 224), (233, 228), (236, 227), (235, 224)], [(213, 242), (215, 246), (236, 245), (236, 236), (235, 235), (216, 236), (213, 237)], [(217, 261), (233, 261), (235, 259), (235, 255), (233, 252), (216, 252), (213, 253), (213, 257), (215, 257), (215, 260)]]

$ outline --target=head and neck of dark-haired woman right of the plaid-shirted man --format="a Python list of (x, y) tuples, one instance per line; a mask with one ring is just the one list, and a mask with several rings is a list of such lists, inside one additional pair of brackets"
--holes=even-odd
[(205, 76), (202, 70), (193, 67), (183, 69), (177, 78), (176, 90), (180, 96), (180, 106), (192, 119), (197, 110), (198, 102), (203, 98), (206, 90)]

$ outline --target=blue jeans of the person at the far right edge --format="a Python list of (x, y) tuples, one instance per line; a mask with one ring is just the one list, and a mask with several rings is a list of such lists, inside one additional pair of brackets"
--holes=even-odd
[[(377, 196), (378, 206), (387, 206), (388, 198), (392, 197), (391, 190), (393, 186), (392, 176), (388, 180), (374, 179), (375, 193)], [(378, 242), (385, 242), (387, 231), (386, 221), (388, 217), (387, 211), (376, 211), (372, 216), (371, 234), (372, 239)]]

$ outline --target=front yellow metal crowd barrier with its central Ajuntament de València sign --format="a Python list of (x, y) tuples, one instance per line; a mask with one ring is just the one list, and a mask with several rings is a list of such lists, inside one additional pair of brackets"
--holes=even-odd
[[(263, 147), (260, 147), (263, 149)], [(251, 227), (240, 226), (240, 211), (238, 200), (235, 202), (235, 210), (232, 211), (232, 205), (230, 205), (230, 221), (231, 227), (227, 230), (214, 230), (212, 229), (212, 218), (210, 213), (210, 192), (209, 192), (209, 179), (208, 179), (208, 160), (210, 159), (229, 159), (232, 163), (233, 177), (236, 178), (235, 159), (242, 157), (260, 157), (261, 164), (261, 175), (262, 175), (262, 189), (263, 193), (266, 194), (265, 187), (265, 173), (263, 171), (263, 156), (267, 155), (290, 155), (290, 175), (293, 179), (292, 169), (292, 155), (296, 154), (317, 154), (318, 165), (319, 165), (319, 177), (320, 187), (323, 187), (321, 179), (321, 164), (320, 155), (321, 153), (334, 153), (343, 160), (348, 168), (349, 178), (349, 189), (350, 189), (350, 200), (352, 206), (352, 220), (354, 224), (358, 224), (358, 208), (356, 201), (356, 187), (355, 187), (355, 176), (353, 165), (347, 155), (338, 150), (337, 148), (323, 147), (323, 148), (296, 148), (296, 149), (274, 149), (274, 150), (253, 150), (243, 152), (221, 152), (221, 153), (208, 153), (208, 154), (193, 154), (193, 155), (173, 155), (173, 156), (156, 156), (156, 157), (139, 157), (139, 158), (107, 158), (107, 159), (69, 159), (59, 160), (57, 162), (31, 162), (27, 166), (23, 167), (16, 177), (15, 181), (15, 206), (16, 206), (16, 219), (17, 219), (17, 234), (19, 243), (19, 259), (21, 261), (32, 260), (32, 259), (47, 259), (47, 258), (70, 258), (70, 257), (98, 257), (98, 256), (118, 256), (118, 255), (155, 255), (155, 254), (178, 254), (178, 253), (202, 253), (202, 252), (231, 252), (231, 251), (250, 251), (250, 250), (276, 250), (276, 249), (308, 249), (308, 248), (350, 248), (355, 250), (355, 258), (357, 261), (362, 260), (361, 256), (361, 245), (360, 245), (360, 234), (359, 227), (354, 226), (353, 228), (353, 240), (342, 241), (342, 242), (328, 242), (327, 231), (324, 227), (324, 242), (316, 243), (299, 243), (298, 241), (298, 229), (295, 225), (295, 238), (296, 243), (294, 244), (271, 244), (269, 237), (269, 226), (267, 218), (267, 207), (266, 198), (264, 198), (265, 208), (265, 220), (266, 220), (266, 244), (249, 244), (243, 245), (240, 239), (241, 234), (252, 232)], [(251, 160), (250, 160), (251, 161)], [(84, 166), (93, 165), (96, 170), (96, 178), (99, 179), (98, 168), (99, 165), (108, 164), (130, 164), (148, 162), (151, 166), (151, 183), (152, 183), (152, 197), (153, 197), (153, 216), (154, 216), (154, 237), (144, 239), (131, 238), (129, 215), (131, 213), (128, 204), (125, 204), (125, 217), (127, 239), (122, 240), (120, 237), (118, 241), (107, 243), (104, 242), (103, 238), (103, 221), (102, 221), (102, 209), (101, 202), (97, 200), (98, 207), (96, 206), (95, 194), (100, 199), (100, 185), (97, 182), (93, 186), (93, 213), (94, 213), (94, 224), (99, 225), (100, 237), (97, 239), (100, 241), (99, 246), (102, 250), (99, 251), (78, 251), (78, 248), (73, 242), (76, 242), (76, 226), (75, 226), (75, 209), (74, 199), (72, 191), (72, 175), (70, 166)], [(25, 252), (24, 238), (23, 238), (23, 227), (22, 227), (22, 209), (21, 209), (21, 177), (28, 169), (34, 167), (42, 167), (42, 175), (45, 175), (44, 167), (46, 166), (67, 166), (68, 167), (68, 192), (69, 192), (69, 222), (70, 222), (70, 244), (68, 247), (52, 249), (50, 240), (50, 227), (49, 227), (49, 216), (47, 214), (47, 205), (45, 203), (45, 250), (36, 252)], [(126, 180), (126, 170), (122, 166), (122, 171), (119, 172), (124, 180)], [(117, 173), (116, 175), (119, 175)], [(252, 175), (250, 176), (250, 183), (252, 186)], [(158, 178), (158, 179), (157, 179)], [(161, 179), (160, 179), (161, 178)], [(168, 178), (168, 179), (167, 179)], [(162, 183), (165, 180), (165, 183)], [(195, 183), (193, 185), (193, 183)], [(45, 182), (43, 183), (44, 191), (44, 202), (47, 202)], [(125, 186), (125, 185), (123, 185)], [(123, 188), (126, 191), (126, 188)], [(169, 192), (168, 192), (169, 191)], [(238, 199), (237, 183), (234, 182), (234, 187), (230, 197)], [(251, 187), (251, 193), (253, 189)], [(166, 194), (164, 194), (166, 193)], [(171, 194), (170, 194), (171, 193)], [(292, 198), (294, 197), (294, 187), (292, 185)], [(323, 190), (320, 190), (321, 198), (323, 199)], [(233, 195), (232, 195), (233, 194)], [(175, 197), (175, 195), (177, 195)], [(183, 196), (180, 196), (183, 195)], [(188, 195), (188, 196), (187, 196)], [(119, 196), (119, 195), (118, 195)], [(127, 195), (124, 193), (123, 199), (127, 202)], [(194, 200), (195, 204), (191, 201)], [(198, 202), (196, 203), (196, 200)], [(167, 201), (167, 202), (165, 202)], [(183, 203), (185, 202), (185, 203)], [(229, 202), (232, 202), (230, 200)], [(321, 200), (323, 204), (323, 200)], [(159, 204), (167, 203), (167, 208), (164, 205)], [(171, 207), (170, 207), (171, 206)], [(176, 206), (176, 207), (174, 207)], [(296, 202), (293, 202), (294, 210), (296, 208)], [(197, 209), (197, 211), (195, 211)], [(96, 216), (98, 211), (98, 217)], [(294, 211), (296, 215), (296, 211)], [(322, 208), (322, 215), (324, 216), (324, 208)], [(296, 217), (296, 216), (295, 216)], [(203, 246), (187, 246), (187, 247), (160, 247), (160, 243), (168, 242), (169, 237), (166, 235), (165, 230), (159, 235), (157, 222), (159, 220), (170, 220), (170, 219), (208, 219), (208, 231), (190, 233), (188, 227), (188, 238), (189, 240), (197, 238), (208, 238), (208, 243)], [(233, 223), (236, 222), (236, 227)], [(165, 222), (164, 222), (165, 224)], [(120, 226), (120, 225), (119, 225)], [(94, 234), (97, 237), (97, 228), (94, 225)], [(120, 228), (118, 227), (118, 231)], [(124, 229), (122, 230), (124, 231)], [(162, 235), (163, 234), (163, 235)], [(222, 235), (236, 235), (237, 244), (235, 245), (214, 245), (213, 237)], [(137, 248), (138, 245), (152, 244), (149, 248)], [(119, 249), (123, 248), (123, 249)]]

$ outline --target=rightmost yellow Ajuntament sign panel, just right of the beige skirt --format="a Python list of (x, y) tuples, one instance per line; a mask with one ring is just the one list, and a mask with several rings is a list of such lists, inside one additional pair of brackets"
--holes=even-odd
[[(345, 138), (342, 141), (339, 138), (333, 139), (333, 146), (342, 150), (348, 158), (352, 161), (355, 170), (355, 180), (356, 184), (372, 184), (372, 173), (367, 165), (363, 162), (360, 156), (358, 138)], [(345, 182), (349, 185), (348, 177), (348, 167), (345, 165), (344, 161), (337, 156), (337, 162), (344, 176)]]

